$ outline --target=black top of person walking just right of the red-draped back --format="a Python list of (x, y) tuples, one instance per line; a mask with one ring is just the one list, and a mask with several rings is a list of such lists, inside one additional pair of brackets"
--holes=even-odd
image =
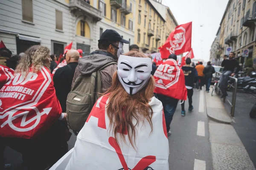
[(185, 75), (185, 85), (193, 87), (194, 81), (198, 79), (198, 72), (191, 66), (183, 66), (181, 69)]

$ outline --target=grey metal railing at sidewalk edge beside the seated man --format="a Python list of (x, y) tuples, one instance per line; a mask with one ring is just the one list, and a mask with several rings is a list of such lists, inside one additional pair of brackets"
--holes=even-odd
[[(218, 77), (220, 78), (222, 73), (217, 71), (216, 72), (216, 77), (217, 77), (217, 74), (219, 75)], [(234, 81), (233, 85), (232, 84), (228, 84), (228, 85), (230, 85), (230, 87), (233, 88), (232, 101), (230, 102), (230, 100), (227, 99), (227, 102), (231, 105), (231, 113), (230, 114), (231, 114), (232, 117), (234, 117), (235, 107), (236, 107), (237, 78), (230, 76), (230, 79), (232, 79)], [(226, 98), (225, 97), (223, 98), (223, 102), (224, 103), (226, 102)]]

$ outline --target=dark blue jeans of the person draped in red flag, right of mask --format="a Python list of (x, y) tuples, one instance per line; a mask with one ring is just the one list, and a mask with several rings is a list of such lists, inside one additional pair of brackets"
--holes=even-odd
[(157, 98), (163, 104), (163, 112), (164, 112), (164, 117), (166, 119), (166, 130), (168, 132), (170, 130), (172, 117), (175, 113), (175, 110), (177, 108), (177, 104), (178, 104), (179, 100), (174, 99), (172, 97), (164, 96), (164, 95), (161, 95), (161, 94), (157, 94)]

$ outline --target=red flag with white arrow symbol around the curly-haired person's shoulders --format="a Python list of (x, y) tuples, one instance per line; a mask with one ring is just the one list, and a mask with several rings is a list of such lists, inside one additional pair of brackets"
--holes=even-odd
[(61, 116), (52, 76), (46, 67), (18, 73), (0, 90), (0, 136), (31, 139), (44, 134)]

